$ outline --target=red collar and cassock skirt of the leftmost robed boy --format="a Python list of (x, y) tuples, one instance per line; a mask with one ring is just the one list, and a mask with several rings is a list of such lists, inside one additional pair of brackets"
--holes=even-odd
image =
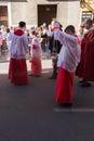
[[(14, 34), (16, 36), (22, 36), (24, 33), (18, 29)], [(11, 80), (11, 82), (15, 85), (28, 84), (26, 59), (14, 59), (14, 57), (10, 59), (9, 79)]]

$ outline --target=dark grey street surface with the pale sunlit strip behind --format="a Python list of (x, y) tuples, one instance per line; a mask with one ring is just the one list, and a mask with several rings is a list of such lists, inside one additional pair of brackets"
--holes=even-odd
[[(30, 64), (27, 60), (28, 75)], [(42, 60), (42, 76), (28, 86), (8, 79), (9, 62), (0, 63), (0, 141), (94, 141), (94, 84), (81, 88), (75, 77), (71, 108), (55, 102), (51, 60)]]

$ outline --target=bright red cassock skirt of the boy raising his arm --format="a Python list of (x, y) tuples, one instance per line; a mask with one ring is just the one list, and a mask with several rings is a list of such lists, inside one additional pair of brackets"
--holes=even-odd
[(56, 81), (56, 94), (55, 94), (57, 103), (72, 102), (72, 85), (73, 85), (73, 73), (69, 73), (65, 70), (63, 67), (59, 67)]

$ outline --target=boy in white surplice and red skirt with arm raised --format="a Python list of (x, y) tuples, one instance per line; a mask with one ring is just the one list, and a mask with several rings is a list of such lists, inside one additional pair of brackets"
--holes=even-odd
[(67, 26), (65, 31), (58, 29), (57, 22), (52, 23), (52, 25), (55, 39), (63, 44), (57, 61), (58, 74), (55, 99), (58, 104), (71, 105), (73, 74), (80, 61), (80, 44), (72, 25)]

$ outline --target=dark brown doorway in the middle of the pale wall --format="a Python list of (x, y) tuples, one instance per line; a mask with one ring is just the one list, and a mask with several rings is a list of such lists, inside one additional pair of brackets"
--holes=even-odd
[(49, 25), (52, 18), (56, 18), (56, 4), (39, 4), (38, 5), (38, 26), (46, 23)]

